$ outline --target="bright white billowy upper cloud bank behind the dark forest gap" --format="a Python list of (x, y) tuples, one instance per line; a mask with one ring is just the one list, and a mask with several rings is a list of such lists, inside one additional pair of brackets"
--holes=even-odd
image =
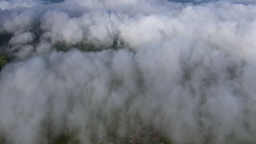
[[(66, 0), (3, 11), (0, 30), (34, 33), (36, 28), (41, 32), (38, 40), (52, 44), (90, 43), (111, 47), (117, 40), (138, 49), (153, 41), (183, 37), (226, 44), (222, 47), (232, 49), (230, 47), (246, 44), (247, 39), (242, 40), (245, 37), (253, 39), (253, 34), (246, 31), (254, 27), (254, 16), (253, 4), (246, 6), (228, 1), (194, 6), (164, 0)], [(239, 44), (234, 44), (238, 39)]]

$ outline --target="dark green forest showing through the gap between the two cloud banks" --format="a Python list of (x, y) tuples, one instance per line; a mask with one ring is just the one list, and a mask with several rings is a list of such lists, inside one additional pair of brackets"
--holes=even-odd
[[(58, 2), (62, 0), (57, 0)], [(44, 33), (40, 29), (40, 24), (34, 24), (34, 26), (28, 28), (28, 31), (34, 35), (34, 39), (32, 42), (27, 43), (26, 45), (32, 45), (34, 48), (40, 43), (40, 37)], [(10, 39), (14, 36), (12, 33), (2, 32), (0, 33), (0, 71), (2, 68), (8, 64), (9, 62), (17, 62), (19, 61), (15, 53), (19, 52), (19, 47), (12, 49), (12, 44), (9, 44)], [(22, 45), (20, 45), (21, 47)], [(120, 42), (120, 40), (115, 39), (112, 44), (108, 46), (105, 45), (94, 45), (88, 42), (79, 42), (77, 44), (66, 44), (65, 42), (57, 42), (52, 45), (52, 50), (56, 50), (58, 52), (68, 52), (72, 49), (77, 49), (82, 52), (98, 52), (106, 49), (114, 49), (117, 50), (124, 46), (124, 42)], [(36, 50), (36, 49), (35, 49)]]

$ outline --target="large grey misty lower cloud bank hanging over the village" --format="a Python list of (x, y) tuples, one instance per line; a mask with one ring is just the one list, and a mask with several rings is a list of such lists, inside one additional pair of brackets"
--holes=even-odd
[(48, 133), (108, 143), (112, 132), (120, 142), (138, 116), (174, 143), (253, 143), (248, 72), (242, 59), (184, 39), (137, 52), (53, 52), (1, 72), (1, 133), (14, 144), (47, 143)]

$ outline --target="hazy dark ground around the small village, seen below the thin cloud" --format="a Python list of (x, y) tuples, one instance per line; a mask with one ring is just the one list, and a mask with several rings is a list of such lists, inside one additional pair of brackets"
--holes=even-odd
[[(137, 125), (136, 125), (137, 126)], [(104, 139), (100, 138), (98, 130), (91, 129), (90, 136), (85, 136), (88, 138), (87, 144), (173, 144), (162, 132), (156, 130), (155, 128), (143, 126), (138, 126), (140, 128), (135, 128), (131, 130), (128, 128), (127, 134), (120, 136), (118, 134), (118, 120), (106, 124), (107, 130), (103, 133)], [(155, 131), (156, 130), (156, 131)], [(83, 144), (79, 142), (76, 136), (76, 132), (72, 133), (62, 133), (57, 136), (53, 136), (50, 130), (46, 126), (46, 139), (42, 144)], [(153, 133), (152, 133), (153, 132)], [(140, 136), (138, 136), (138, 134)], [(155, 138), (158, 135), (158, 138)], [(131, 136), (134, 139), (131, 139)], [(136, 141), (135, 141), (136, 140)], [(8, 142), (5, 138), (0, 138), (0, 144), (12, 144)]]

